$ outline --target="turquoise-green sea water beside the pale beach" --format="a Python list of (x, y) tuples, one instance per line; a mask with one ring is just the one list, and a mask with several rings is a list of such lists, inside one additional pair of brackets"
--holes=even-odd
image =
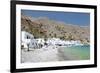
[(64, 48), (64, 53), (70, 54), (72, 58), (78, 60), (90, 59), (90, 45), (79, 45)]

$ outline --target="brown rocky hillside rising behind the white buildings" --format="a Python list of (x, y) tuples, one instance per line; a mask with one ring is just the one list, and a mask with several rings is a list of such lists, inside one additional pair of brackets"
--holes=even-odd
[(47, 17), (33, 18), (21, 15), (21, 30), (30, 32), (35, 38), (60, 38), (90, 42), (90, 28), (51, 20)]

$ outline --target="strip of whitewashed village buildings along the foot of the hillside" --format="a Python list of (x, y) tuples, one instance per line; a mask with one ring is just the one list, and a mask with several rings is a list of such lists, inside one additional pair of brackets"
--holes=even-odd
[(44, 38), (34, 39), (34, 36), (26, 31), (22, 31), (22, 45), (24, 48), (42, 48), (45, 43), (47, 45), (56, 45), (56, 46), (72, 46), (72, 45), (82, 45), (80, 41), (68, 41), (61, 40), (59, 38), (48, 38), (47, 41)]

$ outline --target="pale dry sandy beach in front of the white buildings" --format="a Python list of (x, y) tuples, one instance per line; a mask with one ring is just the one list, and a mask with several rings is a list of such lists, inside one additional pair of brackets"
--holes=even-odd
[(30, 51), (21, 51), (21, 62), (48, 62), (58, 61), (58, 48), (55, 46), (43, 47), (41, 49), (34, 49)]

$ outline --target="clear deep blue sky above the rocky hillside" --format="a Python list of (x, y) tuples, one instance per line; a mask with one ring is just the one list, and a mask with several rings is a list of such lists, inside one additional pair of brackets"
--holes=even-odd
[(58, 12), (58, 11), (39, 11), (21, 10), (21, 13), (31, 17), (47, 17), (51, 20), (61, 21), (68, 24), (89, 26), (90, 14), (79, 12)]

